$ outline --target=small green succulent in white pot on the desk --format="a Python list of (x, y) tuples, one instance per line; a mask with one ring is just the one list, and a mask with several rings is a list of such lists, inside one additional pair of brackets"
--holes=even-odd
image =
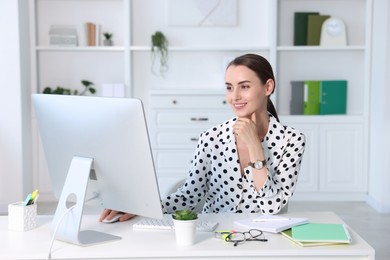
[(172, 215), (175, 225), (176, 244), (189, 246), (195, 244), (196, 224), (198, 214), (194, 211), (183, 209)]

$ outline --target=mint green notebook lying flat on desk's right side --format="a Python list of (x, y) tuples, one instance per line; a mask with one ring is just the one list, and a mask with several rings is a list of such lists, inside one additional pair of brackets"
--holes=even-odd
[(299, 242), (352, 242), (348, 229), (344, 224), (307, 223), (291, 228), (291, 236)]

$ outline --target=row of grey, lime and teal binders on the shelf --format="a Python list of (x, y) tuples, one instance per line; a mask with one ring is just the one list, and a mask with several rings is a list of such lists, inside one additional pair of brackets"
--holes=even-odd
[(291, 81), (291, 115), (336, 115), (346, 112), (346, 80)]

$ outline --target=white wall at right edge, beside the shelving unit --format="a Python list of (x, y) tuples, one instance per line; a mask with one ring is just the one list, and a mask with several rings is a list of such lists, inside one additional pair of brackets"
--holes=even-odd
[(390, 212), (389, 14), (388, 1), (374, 1), (368, 203), (379, 212)]

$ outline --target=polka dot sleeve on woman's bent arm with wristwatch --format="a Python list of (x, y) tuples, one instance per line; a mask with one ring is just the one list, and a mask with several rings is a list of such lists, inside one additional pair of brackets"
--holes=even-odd
[[(273, 166), (275, 172), (272, 176), (268, 170), (268, 179), (263, 187), (252, 190), (263, 214), (277, 214), (293, 195), (298, 180), (303, 153), (305, 151), (305, 136), (302, 133), (292, 133), (279, 164)], [(247, 180), (252, 180), (252, 171), (246, 173)]]

